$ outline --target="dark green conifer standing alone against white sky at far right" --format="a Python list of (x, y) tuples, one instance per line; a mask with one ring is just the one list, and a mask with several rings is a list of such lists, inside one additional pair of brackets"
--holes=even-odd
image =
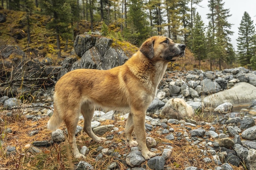
[(256, 44), (254, 41), (255, 26), (247, 12), (244, 13), (238, 28), (237, 51), (238, 62), (245, 66), (250, 64), (251, 58), (255, 55)]

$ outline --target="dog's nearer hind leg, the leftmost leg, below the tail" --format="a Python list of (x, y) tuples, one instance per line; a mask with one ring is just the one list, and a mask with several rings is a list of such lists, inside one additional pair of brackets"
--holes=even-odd
[(81, 154), (76, 146), (76, 126), (79, 120), (78, 110), (66, 110), (66, 115), (72, 115), (72, 117), (65, 117), (64, 121), (67, 126), (67, 141), (70, 144), (70, 148), (75, 158), (85, 158)]

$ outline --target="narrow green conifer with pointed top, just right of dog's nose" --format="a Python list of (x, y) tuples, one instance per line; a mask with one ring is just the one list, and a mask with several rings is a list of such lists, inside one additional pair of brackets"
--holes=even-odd
[(192, 46), (191, 50), (195, 55), (195, 59), (199, 61), (204, 60), (206, 58), (206, 41), (205, 41), (205, 34), (204, 34), (204, 22), (202, 21), (201, 16), (197, 12), (194, 18), (194, 26), (192, 28)]

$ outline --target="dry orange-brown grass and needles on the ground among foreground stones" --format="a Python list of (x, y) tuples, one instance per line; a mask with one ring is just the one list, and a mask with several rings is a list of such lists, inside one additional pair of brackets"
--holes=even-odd
[[(48, 117), (41, 118), (38, 121), (32, 121), (26, 119), (22, 115), (22, 110), (12, 110), (13, 116), (6, 115), (7, 111), (2, 110), (0, 117), (3, 121), (0, 121), (2, 138), (4, 146), (0, 148), (0, 170), (72, 170), (79, 163), (80, 159), (74, 159), (71, 155), (70, 148), (67, 142), (61, 144), (53, 144), (50, 147), (40, 147), (40, 153), (31, 152), (34, 141), (51, 140), (51, 131), (47, 130), (46, 125)], [(119, 128), (119, 131), (124, 130), (125, 121), (103, 121), (102, 125), (113, 124)], [(83, 126), (83, 120), (79, 121), (79, 125)], [(180, 125), (168, 124), (170, 128), (174, 128), (175, 132), (188, 132), (184, 127)], [(4, 134), (6, 128), (11, 128), (12, 133)], [(211, 155), (203, 155), (197, 146), (191, 145), (185, 139), (169, 141), (165, 139), (165, 135), (159, 135), (155, 131), (160, 127), (153, 129), (150, 132), (150, 137), (153, 137), (157, 141), (157, 148), (161, 154), (165, 148), (163, 142), (168, 142), (173, 147), (173, 153), (170, 159), (166, 160), (166, 165), (169, 165), (173, 170), (183, 170), (186, 166), (196, 166), (207, 170), (209, 168), (215, 168), (215, 163), (205, 164), (202, 159), (204, 157), (211, 157)], [(204, 129), (209, 129), (209, 126), (203, 126)], [(60, 129), (65, 130), (63, 124)], [(194, 128), (193, 128), (194, 129)], [(216, 125), (216, 129), (218, 126)], [(39, 130), (39, 133), (29, 137), (29, 133), (32, 130)], [(115, 152), (124, 155), (130, 152), (130, 148), (126, 147), (124, 134), (118, 135), (117, 132), (107, 132), (103, 137), (108, 135), (114, 135), (114, 139), (108, 144), (98, 144), (92, 141), (88, 135), (81, 132), (76, 137), (76, 144), (78, 148), (87, 146), (90, 149), (87, 161), (95, 170), (104, 170), (112, 162), (117, 162), (120, 170), (125, 170), (128, 166), (125, 163), (125, 158), (117, 158), (115, 156), (103, 155), (103, 158), (99, 161), (95, 161), (95, 157), (99, 154), (96, 149), (99, 146), (104, 148), (114, 149)], [(16, 154), (6, 155), (6, 146), (16, 146)], [(142, 164), (146, 169), (149, 169), (146, 162)], [(233, 167), (234, 170), (243, 170), (243, 167)]]

